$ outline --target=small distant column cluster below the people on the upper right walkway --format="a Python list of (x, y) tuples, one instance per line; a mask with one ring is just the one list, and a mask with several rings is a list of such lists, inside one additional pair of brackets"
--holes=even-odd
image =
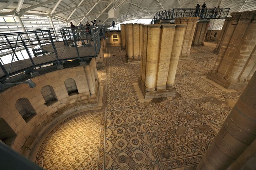
[(206, 37), (209, 23), (209, 19), (200, 19), (197, 22), (196, 30), (192, 41), (192, 46), (204, 46), (204, 39)]

